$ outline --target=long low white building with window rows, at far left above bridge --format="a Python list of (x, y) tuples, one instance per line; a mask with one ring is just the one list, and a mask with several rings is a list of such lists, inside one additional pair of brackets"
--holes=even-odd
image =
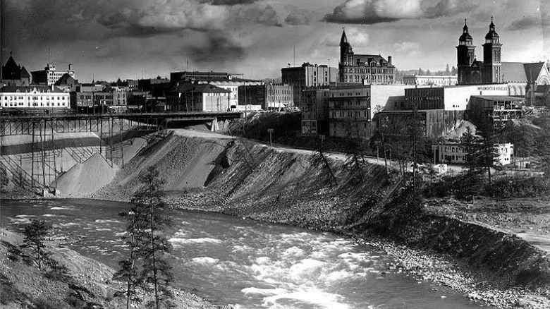
[(6, 86), (0, 89), (2, 109), (69, 109), (68, 92), (54, 86)]

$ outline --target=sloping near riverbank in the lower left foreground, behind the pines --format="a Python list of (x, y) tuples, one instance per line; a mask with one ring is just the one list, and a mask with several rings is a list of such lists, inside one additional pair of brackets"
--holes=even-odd
[[(114, 269), (79, 255), (61, 245), (58, 239), (49, 239), (44, 251), (50, 253), (42, 269), (30, 256), (32, 252), (20, 249), (23, 237), (0, 230), (0, 304), (2, 308), (104, 308), (126, 307), (126, 298), (116, 296), (124, 290), (122, 282), (112, 281)], [(176, 308), (233, 309), (233, 305), (209, 303), (193, 293), (171, 289)], [(151, 293), (138, 291), (145, 308), (152, 300)]]

